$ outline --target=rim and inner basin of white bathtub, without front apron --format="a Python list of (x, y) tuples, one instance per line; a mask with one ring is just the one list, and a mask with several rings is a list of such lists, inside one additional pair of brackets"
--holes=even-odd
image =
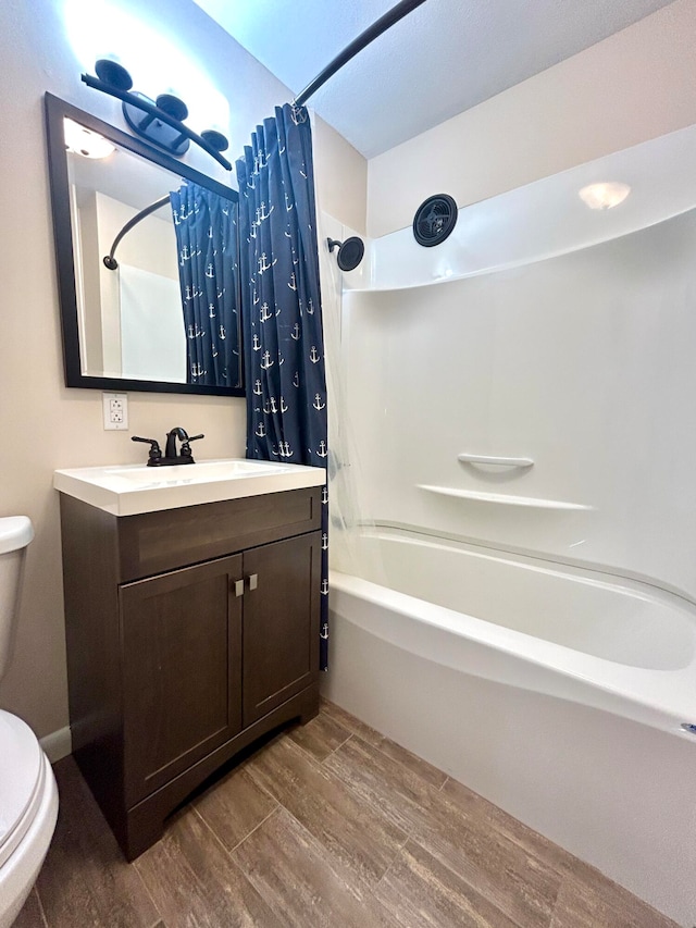
[[(361, 539), (334, 613), (464, 673), (605, 709), (694, 742), (696, 607), (636, 581), (415, 532)], [(696, 729), (695, 729), (696, 732)]]

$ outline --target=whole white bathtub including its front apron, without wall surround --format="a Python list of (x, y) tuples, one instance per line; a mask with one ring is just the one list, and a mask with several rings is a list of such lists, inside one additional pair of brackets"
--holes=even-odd
[(360, 544), (368, 579), (331, 574), (328, 698), (696, 924), (696, 608), (414, 532)]

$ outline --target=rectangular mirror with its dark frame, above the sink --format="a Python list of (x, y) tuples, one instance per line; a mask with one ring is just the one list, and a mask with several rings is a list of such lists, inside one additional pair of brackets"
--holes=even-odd
[(46, 95), (66, 386), (244, 396), (236, 190)]

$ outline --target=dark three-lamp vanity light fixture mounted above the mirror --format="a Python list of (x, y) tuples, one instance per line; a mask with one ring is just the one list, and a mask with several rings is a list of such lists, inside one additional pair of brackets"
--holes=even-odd
[(116, 61), (102, 58), (95, 64), (97, 76), (83, 74), (88, 87), (101, 90), (123, 101), (123, 115), (130, 128), (142, 138), (181, 158), (194, 141), (207, 151), (226, 171), (232, 164), (220, 152), (228, 148), (226, 137), (216, 129), (207, 129), (200, 135), (184, 125), (188, 108), (172, 94), (160, 94), (156, 100), (133, 90), (133, 79), (126, 69)]

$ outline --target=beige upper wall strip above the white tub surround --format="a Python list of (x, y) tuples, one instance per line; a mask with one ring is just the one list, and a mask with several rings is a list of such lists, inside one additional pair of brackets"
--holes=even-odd
[(368, 168), (368, 234), (428, 196), (462, 207), (696, 122), (696, 0), (651, 16), (442, 123)]

